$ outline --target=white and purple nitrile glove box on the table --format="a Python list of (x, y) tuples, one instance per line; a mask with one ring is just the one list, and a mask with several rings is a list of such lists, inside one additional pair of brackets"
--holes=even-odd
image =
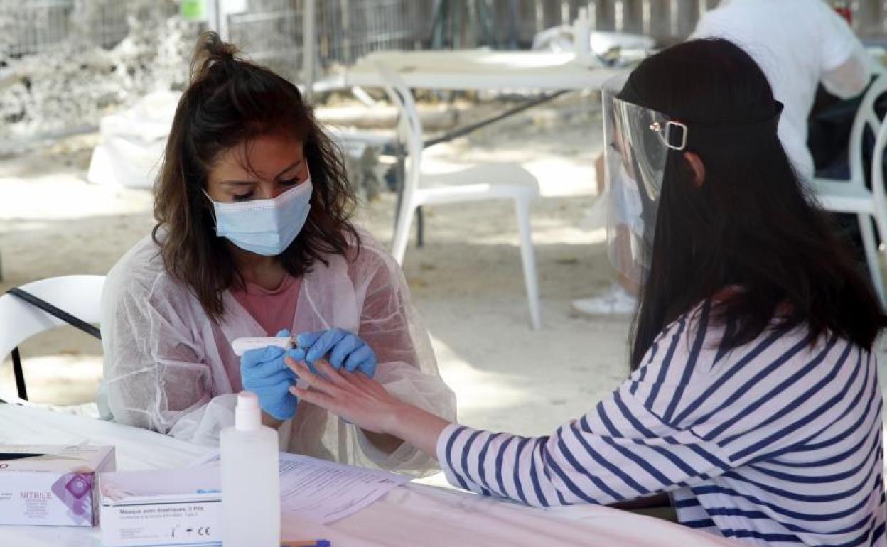
[(95, 526), (103, 471), (114, 447), (0, 444), (0, 524)]

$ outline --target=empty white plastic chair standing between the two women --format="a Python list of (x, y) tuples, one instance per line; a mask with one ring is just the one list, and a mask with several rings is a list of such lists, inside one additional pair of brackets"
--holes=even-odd
[(541, 318), (536, 254), (533, 250), (530, 229), (530, 201), (539, 195), (536, 177), (515, 163), (488, 163), (453, 173), (423, 175), (422, 124), (412, 93), (401, 77), (388, 66), (378, 64), (377, 69), (385, 81), (385, 90), (389, 98), (400, 112), (406, 152), (409, 155), (403, 198), (400, 210), (397, 212), (397, 228), (392, 245), (395, 260), (399, 263), (404, 262), (412, 217), (418, 207), (488, 199), (512, 199), (521, 238), (523, 277), (527, 288), (527, 299), (530, 301), (530, 325), (534, 330), (538, 330)]

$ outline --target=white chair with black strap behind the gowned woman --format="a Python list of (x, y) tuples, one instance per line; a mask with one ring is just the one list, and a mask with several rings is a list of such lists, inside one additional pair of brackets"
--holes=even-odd
[[(105, 276), (60, 276), (41, 279), (19, 288), (86, 323), (98, 324), (104, 285)], [(66, 324), (18, 296), (0, 295), (0, 360), (32, 336)], [(23, 401), (18, 398), (7, 402)]]

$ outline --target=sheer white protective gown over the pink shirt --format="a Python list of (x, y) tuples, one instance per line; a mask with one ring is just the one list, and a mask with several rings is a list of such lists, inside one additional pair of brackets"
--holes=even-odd
[[(329, 255), (328, 266), (316, 261), (302, 278), (290, 331), (357, 332), (375, 351), (375, 379), (389, 393), (455, 420), (455, 396), (437, 371), (400, 267), (372, 236), (360, 236), (357, 260)], [(233, 424), (242, 389), (232, 340), (266, 334), (231, 293), (223, 299), (224, 317), (216, 324), (169, 275), (150, 237), (114, 265), (102, 295), (101, 330), (107, 407), (115, 421), (217, 445), (219, 431)], [(307, 402), (279, 427), (279, 439), (281, 450), (352, 465), (414, 475), (436, 469), (432, 458), (406, 444), (381, 452), (359, 429)]]

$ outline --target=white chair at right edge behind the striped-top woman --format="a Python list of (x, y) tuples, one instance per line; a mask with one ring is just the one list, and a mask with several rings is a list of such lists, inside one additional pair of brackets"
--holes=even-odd
[[(887, 243), (887, 206), (884, 202), (883, 187), (883, 152), (887, 137), (884, 124), (875, 113), (877, 99), (887, 91), (887, 74), (883, 74), (872, 83), (862, 99), (860, 110), (853, 120), (850, 134), (850, 180), (834, 180), (817, 178), (812, 188), (816, 192), (822, 207), (836, 213), (855, 213), (860, 223), (862, 245), (865, 249), (868, 270), (872, 276), (872, 284), (882, 304), (885, 298), (881, 267), (878, 262), (878, 249), (875, 245), (875, 231), (883, 243)], [(862, 164), (862, 138), (866, 129), (871, 129), (876, 136), (875, 149), (872, 154), (872, 190), (866, 188), (865, 170)]]

